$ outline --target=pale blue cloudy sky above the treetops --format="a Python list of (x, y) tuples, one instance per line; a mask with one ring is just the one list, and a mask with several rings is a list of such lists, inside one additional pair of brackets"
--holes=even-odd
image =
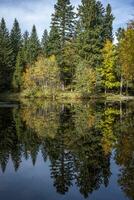
[[(80, 1), (71, 0), (71, 3), (77, 7)], [(113, 8), (114, 32), (134, 18), (134, 0), (101, 0), (101, 2), (104, 6), (110, 3)], [(55, 3), (56, 0), (0, 0), (0, 18), (5, 18), (9, 29), (14, 18), (17, 18), (23, 32), (31, 31), (32, 25), (35, 24), (41, 38), (44, 29), (49, 30)]]

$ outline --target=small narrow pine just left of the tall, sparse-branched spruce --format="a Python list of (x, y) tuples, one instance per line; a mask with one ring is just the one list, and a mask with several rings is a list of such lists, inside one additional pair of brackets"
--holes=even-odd
[(48, 31), (45, 29), (41, 41), (42, 52), (45, 56), (48, 55), (48, 38)]

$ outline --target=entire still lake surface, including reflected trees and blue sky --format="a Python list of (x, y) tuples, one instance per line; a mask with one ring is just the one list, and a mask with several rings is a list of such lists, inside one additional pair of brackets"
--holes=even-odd
[(0, 199), (134, 199), (134, 102), (1, 103)]

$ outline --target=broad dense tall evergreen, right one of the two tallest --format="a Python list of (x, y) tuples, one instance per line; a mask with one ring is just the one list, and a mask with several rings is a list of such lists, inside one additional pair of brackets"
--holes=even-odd
[(78, 18), (78, 54), (88, 61), (89, 66), (97, 67), (101, 63), (101, 49), (104, 45), (104, 8), (101, 2), (82, 0), (78, 8)]

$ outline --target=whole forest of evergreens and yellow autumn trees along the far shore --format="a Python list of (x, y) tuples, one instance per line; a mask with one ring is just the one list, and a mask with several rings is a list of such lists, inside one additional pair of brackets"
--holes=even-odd
[[(9, 31), (0, 22), (0, 92), (28, 98), (133, 96), (134, 21), (114, 34), (112, 7), (57, 0), (50, 30), (22, 33), (17, 19)], [(116, 38), (116, 42), (115, 42)]]

